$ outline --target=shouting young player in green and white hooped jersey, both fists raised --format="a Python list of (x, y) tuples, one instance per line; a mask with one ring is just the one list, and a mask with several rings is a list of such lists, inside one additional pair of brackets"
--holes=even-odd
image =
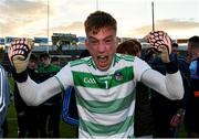
[[(167, 75), (164, 76), (136, 56), (116, 54), (117, 25), (111, 14), (103, 11), (91, 13), (84, 25), (87, 36), (85, 45), (92, 56), (70, 62), (41, 84), (31, 81), (24, 67), (33, 45), (31, 40), (12, 42), (9, 57), (27, 103), (39, 105), (67, 86), (74, 86), (80, 138), (130, 138), (134, 137), (134, 88), (138, 81), (170, 99), (182, 98), (181, 76), (169, 61), (167, 47), (170, 47), (170, 42), (166, 33), (151, 32), (147, 36), (161, 52), (167, 65)], [(154, 38), (156, 35), (164, 38)]]

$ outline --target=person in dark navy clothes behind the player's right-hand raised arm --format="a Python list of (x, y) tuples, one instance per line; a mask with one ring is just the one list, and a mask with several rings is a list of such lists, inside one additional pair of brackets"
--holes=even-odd
[[(150, 66), (166, 74), (166, 66), (159, 57), (159, 52), (153, 51), (157, 56), (150, 62)], [(184, 121), (185, 109), (189, 100), (189, 64), (186, 58), (179, 58), (178, 44), (171, 45), (170, 61), (176, 63), (182, 76), (185, 95), (181, 100), (170, 100), (156, 90), (151, 89), (151, 109), (154, 116), (154, 137), (155, 138), (176, 138), (177, 129)]]

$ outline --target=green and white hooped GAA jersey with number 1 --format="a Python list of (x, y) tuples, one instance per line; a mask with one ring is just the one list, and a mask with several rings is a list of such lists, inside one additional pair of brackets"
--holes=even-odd
[(148, 68), (140, 58), (116, 54), (105, 72), (92, 57), (72, 61), (60, 71), (61, 85), (76, 89), (80, 138), (134, 136), (135, 86)]

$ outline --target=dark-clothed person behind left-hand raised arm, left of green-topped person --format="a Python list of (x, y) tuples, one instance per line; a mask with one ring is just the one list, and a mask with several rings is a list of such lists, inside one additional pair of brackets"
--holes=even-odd
[[(30, 77), (39, 82), (36, 55), (31, 54), (27, 70)], [(25, 104), (19, 94), (17, 83), (14, 83), (14, 107), (18, 118), (18, 138), (39, 137), (39, 109), (36, 106)]]

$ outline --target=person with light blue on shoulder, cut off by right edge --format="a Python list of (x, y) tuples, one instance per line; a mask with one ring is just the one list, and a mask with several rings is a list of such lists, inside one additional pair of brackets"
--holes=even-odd
[(190, 86), (191, 99), (185, 115), (185, 127), (189, 138), (199, 138), (199, 36), (188, 40), (188, 54), (190, 56)]

